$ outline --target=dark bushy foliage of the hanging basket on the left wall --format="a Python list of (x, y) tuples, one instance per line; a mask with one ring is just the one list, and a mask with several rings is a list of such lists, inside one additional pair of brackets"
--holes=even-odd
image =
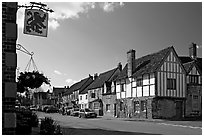
[(24, 91), (28, 91), (28, 88), (39, 88), (43, 82), (45, 84), (50, 84), (48, 78), (38, 71), (21, 72), (18, 77), (17, 91), (23, 93)]

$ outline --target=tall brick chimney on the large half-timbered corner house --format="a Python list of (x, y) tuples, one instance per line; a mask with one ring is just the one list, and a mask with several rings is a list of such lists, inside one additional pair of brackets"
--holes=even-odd
[(127, 52), (128, 77), (131, 77), (135, 68), (135, 50), (131, 49)]

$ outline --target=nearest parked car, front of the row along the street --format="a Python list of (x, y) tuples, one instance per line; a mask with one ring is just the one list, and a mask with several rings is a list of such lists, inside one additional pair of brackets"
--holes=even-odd
[(88, 117), (92, 117), (92, 118), (96, 118), (97, 114), (96, 112), (92, 111), (91, 109), (85, 108), (85, 109), (81, 109), (79, 111), (79, 118), (88, 118)]

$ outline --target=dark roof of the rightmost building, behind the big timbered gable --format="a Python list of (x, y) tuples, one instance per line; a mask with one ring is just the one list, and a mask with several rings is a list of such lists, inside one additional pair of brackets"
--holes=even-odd
[(183, 63), (187, 72), (189, 72), (192, 65), (195, 64), (202, 73), (202, 58), (192, 59), (191, 57), (187, 56), (179, 56), (179, 59)]

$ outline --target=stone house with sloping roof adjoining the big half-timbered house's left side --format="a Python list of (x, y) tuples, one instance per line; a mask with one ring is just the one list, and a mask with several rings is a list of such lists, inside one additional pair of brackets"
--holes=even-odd
[(121, 68), (120, 64), (112, 70), (101, 73), (88, 87), (88, 106), (99, 116), (109, 115), (114, 110), (112, 104), (110, 104), (112, 101), (115, 101), (115, 94), (112, 94), (111, 86), (112, 81), (121, 72)]

